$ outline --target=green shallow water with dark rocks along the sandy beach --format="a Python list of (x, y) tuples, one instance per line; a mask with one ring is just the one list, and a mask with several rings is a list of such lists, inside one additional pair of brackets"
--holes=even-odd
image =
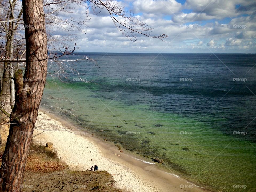
[[(97, 91), (98, 85), (81, 85), (84, 84), (57, 85), (48, 81), (44, 97), (77, 103), (54, 99), (43, 99), (42, 103), (71, 110), (77, 119), (70, 114), (63, 117), (99, 137), (118, 145), (121, 142), (122, 147), (148, 157), (149, 162), (155, 157), (164, 159), (164, 165), (159, 166), (192, 182), (215, 190), (255, 190), (255, 143), (226, 135), (193, 118), (152, 111), (147, 105), (127, 105), (115, 98), (105, 99)], [(157, 124), (163, 126), (155, 126)], [(182, 134), (182, 131), (188, 134)], [(189, 150), (183, 150), (185, 147)], [(238, 184), (247, 187), (233, 187)]]

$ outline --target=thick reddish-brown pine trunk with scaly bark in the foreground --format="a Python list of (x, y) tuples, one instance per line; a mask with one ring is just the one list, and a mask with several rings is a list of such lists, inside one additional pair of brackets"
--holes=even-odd
[[(23, 0), (26, 69), (15, 72), (15, 105), (0, 168), (0, 191), (21, 191), (32, 133), (43, 95), (47, 72), (47, 37), (42, 0)], [(17, 74), (16, 74), (17, 73)]]

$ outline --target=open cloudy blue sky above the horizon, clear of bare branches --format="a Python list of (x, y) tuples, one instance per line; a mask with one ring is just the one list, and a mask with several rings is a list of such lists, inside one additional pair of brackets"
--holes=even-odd
[[(132, 42), (123, 37), (106, 10), (95, 15), (89, 9), (90, 20), (82, 26), (84, 33), (72, 32), (77, 36), (77, 51), (256, 53), (255, 0), (122, 0), (117, 3), (152, 27), (152, 35), (168, 35), (168, 42), (142, 35)], [(69, 16), (85, 17), (85, 13), (85, 7), (76, 6)], [(56, 30), (55, 35), (67, 34)]]

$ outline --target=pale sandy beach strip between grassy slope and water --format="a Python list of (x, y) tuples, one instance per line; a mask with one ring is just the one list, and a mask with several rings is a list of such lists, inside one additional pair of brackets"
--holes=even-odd
[(117, 188), (128, 191), (210, 191), (185, 178), (161, 170), (155, 163), (131, 155), (126, 150), (122, 149), (121, 153), (113, 143), (79, 129), (79, 126), (63, 120), (58, 115), (45, 114), (46, 111), (48, 112), (42, 108), (38, 111), (43, 114), (38, 116), (34, 131), (36, 135), (33, 135), (33, 139), (43, 144), (52, 142), (62, 161), (71, 169), (83, 171), (96, 164), (99, 170), (113, 175)]

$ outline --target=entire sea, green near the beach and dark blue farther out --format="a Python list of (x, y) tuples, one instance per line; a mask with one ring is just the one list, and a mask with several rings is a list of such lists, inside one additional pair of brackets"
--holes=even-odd
[(57, 60), (42, 107), (143, 161), (163, 159), (156, 166), (199, 186), (256, 191), (256, 54), (76, 52)]

